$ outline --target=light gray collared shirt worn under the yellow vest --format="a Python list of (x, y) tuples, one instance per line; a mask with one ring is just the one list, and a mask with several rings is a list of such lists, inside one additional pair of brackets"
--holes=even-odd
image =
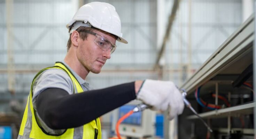
[[(93, 90), (93, 88), (90, 86), (89, 83), (87, 83), (85, 80), (83, 80), (76, 72), (74, 72), (65, 62), (62, 62), (65, 66), (67, 66), (70, 71), (73, 73), (73, 75), (76, 77), (78, 82), (80, 83), (81, 87), (84, 91)], [(61, 70), (61, 69), (48, 69), (44, 72), (42, 72), (38, 77), (36, 78), (34, 84), (33, 84), (33, 97), (32, 102), (34, 109), (36, 108), (36, 101), (37, 96), (44, 91), (47, 88), (61, 88), (65, 91), (67, 91), (70, 95), (73, 94), (73, 83), (69, 75)], [(77, 90), (75, 89), (75, 93), (77, 93)], [(48, 133), (51, 134), (60, 134), (64, 131), (63, 130), (53, 130), (49, 128), (40, 118), (40, 116), (37, 114), (38, 120), (42, 128)], [(79, 128), (79, 127), (78, 127)]]

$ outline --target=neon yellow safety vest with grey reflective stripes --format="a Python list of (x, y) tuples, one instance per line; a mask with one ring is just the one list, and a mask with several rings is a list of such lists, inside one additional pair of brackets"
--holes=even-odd
[[(18, 135), (18, 139), (72, 139), (76, 137), (80, 137), (80, 134), (83, 134), (83, 139), (101, 139), (101, 125), (100, 125), (100, 119), (96, 118), (96, 120), (91, 121), (90, 123), (84, 124), (83, 125), (83, 132), (74, 132), (77, 128), (70, 128), (67, 129), (64, 133), (60, 135), (50, 135), (43, 131), (43, 129), (40, 128), (40, 126), (37, 123), (36, 117), (35, 117), (35, 111), (33, 108), (33, 103), (32, 103), (32, 96), (33, 96), (33, 84), (37, 78), (38, 75), (40, 75), (42, 72), (45, 70), (48, 70), (50, 68), (58, 68), (63, 71), (65, 71), (70, 79), (72, 80), (73, 83), (73, 88), (75, 93), (75, 88), (78, 93), (84, 92), (83, 88), (75, 78), (75, 76), (72, 74), (72, 72), (65, 67), (65, 65), (61, 62), (56, 62), (55, 66), (53, 67), (47, 67), (44, 68), (43, 70), (39, 71), (37, 75), (34, 77), (32, 84), (31, 84), (31, 89), (28, 97), (28, 101), (26, 104), (25, 112), (22, 118), (22, 123), (21, 123), (21, 128), (20, 132)], [(64, 122), (64, 121), (63, 121)]]

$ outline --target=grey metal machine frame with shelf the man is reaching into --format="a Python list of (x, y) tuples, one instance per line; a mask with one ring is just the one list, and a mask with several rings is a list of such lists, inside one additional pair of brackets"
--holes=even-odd
[[(255, 63), (255, 59), (253, 58), (253, 56), (255, 57), (255, 53), (256, 53), (255, 50), (253, 51), (253, 48), (254, 48), (253, 44), (255, 40), (254, 32), (255, 32), (255, 26), (256, 26), (254, 19), (255, 19), (255, 15), (251, 15), (247, 19), (247, 21), (244, 22), (206, 60), (206, 62), (204, 62), (204, 64), (199, 68), (199, 70), (197, 70), (193, 74), (193, 76), (189, 78), (180, 87), (187, 90), (188, 95), (191, 96), (190, 98), (193, 98), (192, 93), (195, 91), (196, 88), (200, 87), (201, 85), (205, 85), (205, 88), (203, 89), (204, 93), (209, 92), (209, 90), (215, 91), (215, 94), (216, 94), (215, 105), (218, 104), (217, 96), (220, 90), (225, 90), (226, 92), (228, 92), (229, 94), (227, 94), (227, 96), (232, 94), (232, 89), (230, 84), (234, 81), (235, 77), (241, 74), (247, 66)], [(255, 65), (256, 64), (254, 64), (254, 67)], [(255, 71), (255, 68), (254, 68), (254, 71)], [(254, 80), (255, 80), (255, 77), (254, 77)], [(221, 87), (220, 87), (220, 84), (222, 84)], [(225, 85), (225, 84), (229, 84), (229, 85)], [(254, 85), (255, 85), (255, 82), (254, 82)], [(239, 90), (237, 92), (239, 92)], [(255, 89), (254, 89), (254, 92), (255, 92)], [(241, 134), (249, 134), (250, 136), (253, 136), (253, 134), (255, 134), (255, 125), (254, 125), (254, 129), (232, 128), (231, 117), (254, 114), (255, 106), (256, 106), (255, 102), (242, 103), (238, 106), (232, 106), (232, 107), (222, 108), (222, 109), (208, 111), (208, 112), (204, 111), (204, 112), (201, 112), (199, 115), (203, 118), (206, 118), (206, 120), (208, 120), (208, 123), (211, 119), (227, 118), (226, 128), (213, 128), (216, 132), (218, 132), (217, 134), (220, 134), (220, 133), (231, 134), (234, 131), (239, 131), (241, 132)], [(196, 120), (196, 119), (197, 119), (196, 116), (188, 114), (186, 118), (184, 117), (180, 118), (180, 121)], [(255, 120), (256, 118), (254, 115), (254, 121)], [(218, 136), (218, 138), (220, 138), (220, 136)]]

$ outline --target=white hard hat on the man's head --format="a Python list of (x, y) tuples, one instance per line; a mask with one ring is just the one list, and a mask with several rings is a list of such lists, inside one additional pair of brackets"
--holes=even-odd
[(127, 43), (127, 41), (122, 38), (121, 21), (116, 13), (116, 9), (109, 3), (91, 2), (80, 7), (72, 20), (67, 24), (67, 28), (69, 29), (75, 22), (76, 24), (72, 26), (70, 33), (80, 26), (93, 26), (118, 36), (117, 41)]

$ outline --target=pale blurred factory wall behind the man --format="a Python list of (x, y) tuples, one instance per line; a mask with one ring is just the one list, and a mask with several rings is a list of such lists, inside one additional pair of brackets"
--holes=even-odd
[[(92, 2), (85, 0), (84, 2)], [(99, 0), (116, 7), (122, 21), (123, 37), (100, 74), (89, 74), (86, 81), (94, 89), (144, 79), (183, 83), (242, 23), (241, 0), (193, 0), (189, 22), (188, 0), (181, 0), (164, 53), (163, 71), (154, 71), (157, 46), (156, 0)], [(166, 29), (173, 0), (163, 0)], [(13, 112), (9, 100), (23, 111), (34, 75), (41, 68), (62, 61), (69, 38), (65, 25), (77, 10), (75, 0), (14, 0), (13, 31), (7, 36), (6, 4), (0, 0), (0, 111)], [(189, 42), (189, 23), (191, 34)], [(8, 39), (13, 41), (15, 95), (8, 91)], [(188, 46), (191, 46), (189, 58)], [(191, 67), (189, 60), (191, 59)], [(188, 69), (189, 68), (189, 69)], [(111, 113), (103, 116), (108, 128)]]

